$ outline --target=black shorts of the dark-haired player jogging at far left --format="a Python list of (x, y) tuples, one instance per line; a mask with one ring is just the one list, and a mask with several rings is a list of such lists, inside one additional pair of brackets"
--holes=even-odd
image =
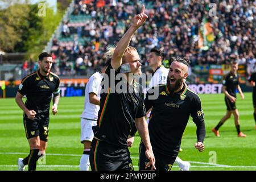
[(40, 140), (48, 141), (49, 115), (43, 117), (37, 115), (35, 119), (28, 119), (27, 115), (24, 114), (23, 124), (27, 139), (39, 136)]

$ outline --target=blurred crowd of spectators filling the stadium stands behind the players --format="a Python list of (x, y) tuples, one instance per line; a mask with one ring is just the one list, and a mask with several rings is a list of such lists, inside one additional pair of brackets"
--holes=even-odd
[[(225, 64), (232, 59), (240, 64), (255, 59), (255, 1), (216, 1), (216, 15), (209, 15), (212, 1), (75, 1), (72, 17), (88, 15), (78, 24), (63, 22), (60, 38), (53, 39), (52, 55), (59, 75), (92, 75), (103, 61), (106, 46), (116, 44), (130, 26), (131, 18), (146, 5), (148, 19), (131, 40), (143, 68), (148, 67), (151, 48), (164, 52), (164, 59), (188, 57), (194, 65)], [(209, 49), (198, 47), (203, 19), (210, 22), (214, 41)], [(84, 39), (85, 38), (85, 39)], [(82, 42), (81, 42), (82, 40)], [(166, 62), (168, 64), (168, 61)]]

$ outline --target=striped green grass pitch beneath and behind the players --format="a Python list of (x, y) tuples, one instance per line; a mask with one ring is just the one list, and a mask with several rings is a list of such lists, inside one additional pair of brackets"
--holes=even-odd
[[(190, 118), (181, 143), (183, 151), (179, 157), (191, 162), (191, 171), (255, 171), (256, 130), (251, 93), (245, 93), (245, 100), (237, 95), (241, 131), (247, 135), (246, 138), (237, 137), (233, 116), (220, 128), (221, 137), (215, 137), (211, 130), (226, 113), (224, 94), (203, 94), (200, 97), (207, 129), (205, 151), (200, 153), (194, 147), (196, 125)], [(80, 143), (80, 115), (83, 109), (84, 97), (60, 99), (59, 113), (50, 115), (45, 164), (38, 164), (37, 170), (79, 170), (83, 150)], [(17, 170), (17, 159), (28, 154), (22, 114), (14, 98), (0, 99), (0, 170)], [(137, 133), (134, 145), (130, 148), (135, 170), (138, 170), (139, 141)], [(179, 167), (174, 165), (172, 170), (179, 170)]]

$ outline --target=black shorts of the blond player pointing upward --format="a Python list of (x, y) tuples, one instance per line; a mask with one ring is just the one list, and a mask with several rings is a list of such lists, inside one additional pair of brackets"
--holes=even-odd
[(92, 171), (133, 171), (128, 148), (117, 147), (93, 138), (90, 147)]

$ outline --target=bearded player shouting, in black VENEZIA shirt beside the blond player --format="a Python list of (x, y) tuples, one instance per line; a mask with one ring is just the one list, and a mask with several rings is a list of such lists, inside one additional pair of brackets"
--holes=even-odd
[[(205, 125), (204, 112), (197, 94), (184, 83), (188, 76), (189, 60), (176, 58), (170, 65), (167, 84), (148, 90), (144, 104), (146, 110), (151, 109), (148, 132), (155, 155), (155, 167), (161, 171), (170, 171), (179, 153), (181, 137), (187, 125), (189, 115), (197, 126), (197, 142), (195, 147), (204, 151)], [(158, 98), (150, 96), (158, 92)], [(144, 144), (139, 151), (139, 170), (148, 163), (144, 155)], [(147, 166), (146, 166), (147, 167)]]

